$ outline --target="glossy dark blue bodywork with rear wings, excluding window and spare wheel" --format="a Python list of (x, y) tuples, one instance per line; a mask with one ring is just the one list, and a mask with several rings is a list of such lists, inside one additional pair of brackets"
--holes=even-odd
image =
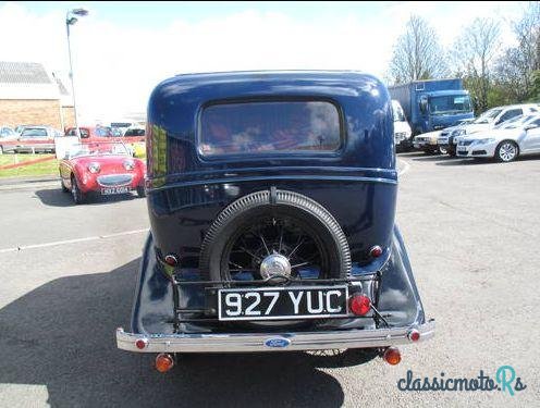
[[(342, 146), (336, 152), (229, 156), (208, 160), (197, 150), (205, 106), (246, 100), (330, 100), (339, 107)], [(249, 72), (181, 75), (155, 89), (148, 106), (148, 210), (145, 245), (132, 316), (135, 333), (173, 326), (173, 285), (157, 257), (180, 256), (180, 279), (200, 281), (198, 256), (205, 234), (232, 201), (269, 189), (300, 193), (322, 205), (347, 238), (351, 279), (380, 275), (378, 308), (391, 325), (425, 322), (405, 247), (394, 224), (397, 172), (390, 95), (373, 76), (352, 72)], [(380, 245), (383, 255), (368, 257)], [(306, 270), (306, 276), (312, 271)], [(369, 281), (369, 282), (368, 282)], [(375, 280), (363, 283), (365, 293)], [(208, 309), (204, 288), (179, 288), (180, 308)], [(372, 318), (334, 319), (321, 330), (375, 327)], [(237, 330), (222, 322), (183, 322), (177, 332)], [(259, 329), (260, 330), (260, 329)], [(268, 331), (280, 331), (279, 326)], [(279, 346), (279, 342), (273, 346)]]

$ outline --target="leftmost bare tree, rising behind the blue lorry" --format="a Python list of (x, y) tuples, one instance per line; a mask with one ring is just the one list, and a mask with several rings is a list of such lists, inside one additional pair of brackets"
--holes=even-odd
[(447, 69), (435, 30), (413, 15), (394, 44), (389, 76), (395, 84), (446, 76)]

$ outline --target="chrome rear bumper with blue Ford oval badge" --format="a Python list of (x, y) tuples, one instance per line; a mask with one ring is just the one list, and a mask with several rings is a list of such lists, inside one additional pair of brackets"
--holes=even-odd
[[(331, 348), (388, 347), (413, 343), (412, 331), (420, 333), (419, 342), (433, 337), (435, 322), (409, 327), (347, 330), (308, 333), (229, 333), (229, 334), (136, 334), (116, 330), (118, 348), (138, 353), (253, 353), (299, 351)], [(136, 342), (145, 344), (137, 348)]]

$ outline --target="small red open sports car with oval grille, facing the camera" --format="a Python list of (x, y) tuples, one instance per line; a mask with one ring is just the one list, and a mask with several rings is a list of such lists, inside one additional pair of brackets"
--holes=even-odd
[(122, 143), (84, 143), (72, 146), (60, 161), (62, 190), (71, 191), (75, 203), (88, 193), (145, 196), (146, 164), (131, 157)]

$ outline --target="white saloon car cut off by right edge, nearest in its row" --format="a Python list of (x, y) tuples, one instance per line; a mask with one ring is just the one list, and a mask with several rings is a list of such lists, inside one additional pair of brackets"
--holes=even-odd
[(516, 116), (492, 129), (463, 136), (458, 157), (494, 158), (508, 162), (519, 156), (540, 153), (540, 115)]

